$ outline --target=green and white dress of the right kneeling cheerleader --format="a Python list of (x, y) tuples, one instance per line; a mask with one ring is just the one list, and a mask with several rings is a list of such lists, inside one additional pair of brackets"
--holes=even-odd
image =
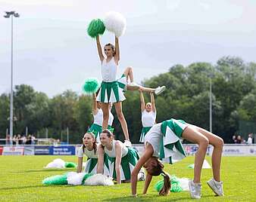
[[(105, 154), (107, 154), (110, 157), (110, 160), (112, 162), (111, 164), (111, 173), (113, 173), (112, 177), (114, 179), (117, 179), (117, 173), (115, 170), (115, 164), (116, 164), (116, 142), (118, 140), (113, 140), (113, 147), (112, 150), (109, 151), (106, 147), (104, 148)], [(135, 167), (136, 163), (139, 161), (139, 155), (136, 152), (134, 148), (127, 148), (125, 145), (123, 145), (123, 142), (121, 142), (122, 145), (122, 159), (120, 164), (120, 177), (121, 180), (130, 180), (131, 179), (131, 173), (133, 171), (133, 168)]]

